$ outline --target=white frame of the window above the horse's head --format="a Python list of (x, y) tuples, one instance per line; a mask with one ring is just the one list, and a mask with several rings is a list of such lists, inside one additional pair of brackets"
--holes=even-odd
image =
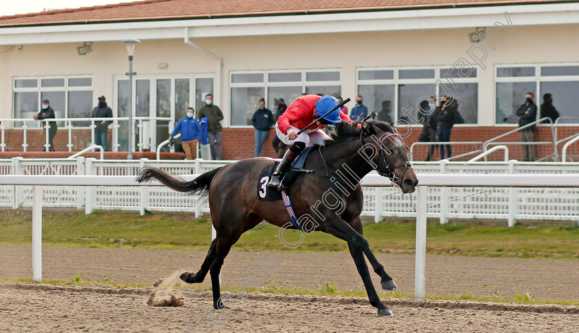
[[(453, 65), (425, 65), (425, 66), (389, 66), (389, 67), (356, 67), (356, 96), (359, 93), (358, 91), (358, 86), (359, 85), (378, 85), (378, 84), (383, 84), (383, 85), (394, 85), (394, 99), (392, 100), (392, 109), (394, 110), (394, 119), (399, 119), (398, 117), (398, 86), (400, 84), (431, 84), (434, 85), (436, 84), (436, 82), (438, 80), (442, 81), (443, 83), (448, 82), (448, 80), (445, 77), (441, 77), (440, 76), (440, 70), (444, 70), (444, 69), (448, 69), (448, 68), (452, 68)], [(480, 84), (479, 82), (479, 73), (480, 73), (480, 68), (478, 68), (478, 65), (474, 65), (474, 68), (476, 69), (476, 75), (474, 77), (457, 77), (457, 78), (449, 78), (452, 81), (454, 81), (455, 83), (477, 83), (477, 90), (478, 90), (478, 84)], [(360, 80), (359, 78), (359, 72), (360, 71), (367, 71), (367, 70), (394, 70), (394, 78), (393, 79), (374, 79), (374, 80)], [(434, 78), (432, 79), (400, 79), (400, 76), (398, 74), (398, 72), (400, 70), (434, 70)], [(440, 87), (437, 85), (436, 87), (436, 94), (438, 95), (440, 93)], [(478, 91), (477, 91), (478, 93)], [(413, 108), (415, 107), (415, 105), (410, 105)], [(458, 126), (458, 127), (469, 127), (469, 126), (473, 126), (473, 125), (478, 125), (478, 107), (477, 107), (477, 119), (476, 119), (476, 123), (461, 123), (461, 124), (454, 124), (454, 126)], [(423, 124), (415, 124), (415, 123), (411, 123), (409, 124), (411, 127), (420, 127), (423, 126)]]

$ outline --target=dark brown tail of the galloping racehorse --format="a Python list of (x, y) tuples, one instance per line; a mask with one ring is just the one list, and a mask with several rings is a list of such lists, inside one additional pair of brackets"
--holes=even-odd
[(172, 188), (173, 190), (205, 196), (209, 194), (211, 181), (217, 172), (219, 172), (219, 170), (221, 170), (221, 167), (205, 172), (192, 181), (184, 181), (180, 177), (164, 172), (159, 168), (145, 167), (141, 170), (141, 172), (139, 172), (139, 176), (136, 177), (136, 181), (141, 183), (143, 181), (156, 179), (157, 181), (163, 183), (163, 185), (167, 186), (168, 188)]

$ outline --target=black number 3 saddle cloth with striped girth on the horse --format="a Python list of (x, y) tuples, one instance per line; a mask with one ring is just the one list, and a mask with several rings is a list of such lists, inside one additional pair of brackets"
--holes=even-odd
[[(300, 156), (298, 156), (296, 161), (292, 163), (292, 168), (290, 168), (290, 170), (288, 170), (285, 176), (283, 177), (283, 184), (287, 186), (287, 188), (290, 187), (292, 181), (298, 175), (298, 172), (305, 172), (305, 170), (303, 170), (305, 159), (307, 159), (307, 155), (309, 154), (309, 152), (312, 151), (314, 147), (317, 146), (312, 145), (312, 147), (306, 148), (300, 154)], [(297, 222), (298, 219), (296, 217), (296, 213), (294, 212), (294, 208), (292, 207), (290, 196), (287, 195), (285, 191), (280, 192), (276, 188), (270, 188), (269, 186), (267, 186), (267, 183), (270, 182), (270, 178), (272, 177), (272, 174), (276, 170), (278, 163), (279, 162), (271, 163), (270, 165), (267, 165), (265, 168), (263, 168), (263, 170), (261, 170), (261, 174), (259, 174), (259, 183), (257, 184), (257, 196), (259, 200), (265, 201), (283, 200), (283, 204), (285, 206), (285, 209), (287, 210), (287, 214), (290, 215), (290, 220), (292, 221), (292, 224), (294, 225), (294, 227), (301, 230), (301, 225), (299, 225)], [(296, 171), (296, 169), (300, 171)]]

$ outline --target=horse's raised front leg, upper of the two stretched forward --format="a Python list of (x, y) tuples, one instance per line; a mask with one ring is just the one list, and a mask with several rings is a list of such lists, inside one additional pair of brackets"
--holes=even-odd
[(334, 236), (338, 237), (339, 239), (343, 239), (348, 243), (352, 243), (352, 245), (361, 250), (367, 256), (370, 265), (372, 265), (372, 269), (374, 269), (374, 272), (380, 276), (380, 284), (382, 285), (382, 288), (384, 290), (396, 290), (396, 283), (394, 283), (392, 277), (386, 273), (384, 266), (378, 262), (378, 259), (376, 259), (376, 256), (374, 256), (374, 253), (372, 250), (370, 250), (368, 241), (361, 234), (362, 222), (360, 221), (360, 217), (358, 216), (356, 219), (358, 219), (358, 221), (354, 222), (354, 225), (356, 225), (355, 223), (360, 223), (360, 232), (354, 230), (352, 226), (350, 226), (346, 221), (341, 219), (341, 217), (337, 216), (336, 214), (334, 214), (332, 219), (329, 219), (330, 221), (328, 221), (327, 225), (325, 225), (325, 230), (323, 231), (327, 232), (328, 234), (333, 234)]

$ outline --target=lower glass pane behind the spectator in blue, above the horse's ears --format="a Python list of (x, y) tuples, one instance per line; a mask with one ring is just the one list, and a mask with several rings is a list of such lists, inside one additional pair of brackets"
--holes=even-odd
[[(375, 111), (378, 120), (394, 121), (394, 84), (358, 85), (358, 94), (368, 107), (368, 115)], [(389, 108), (387, 108), (389, 101)]]

